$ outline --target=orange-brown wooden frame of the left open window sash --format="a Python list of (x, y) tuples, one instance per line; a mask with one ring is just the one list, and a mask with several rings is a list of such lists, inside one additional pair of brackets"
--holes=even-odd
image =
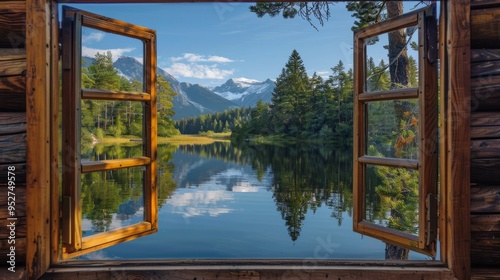
[[(62, 28), (62, 258), (68, 259), (157, 231), (156, 33), (151, 29), (69, 7), (63, 8)], [(82, 63), (85, 63), (82, 62), (83, 28), (125, 36), (139, 42), (143, 48), (143, 81), (139, 90), (82, 87)], [(88, 114), (85, 101), (89, 100), (95, 104), (125, 102), (127, 106), (139, 108), (135, 114), (142, 117), (142, 154), (113, 159), (82, 157), (82, 116)], [(86, 125), (92, 122), (92, 119), (87, 119)], [(98, 126), (99, 120), (94, 123)], [(106, 189), (113, 183), (110, 178), (113, 172), (131, 169), (135, 169), (134, 174), (140, 174), (136, 176), (140, 178), (135, 178), (131, 186), (140, 190), (138, 197), (142, 197), (142, 217), (129, 224), (101, 226), (99, 230), (85, 231), (82, 228), (85, 218), (82, 209), (95, 207), (97, 203), (93, 201), (93, 205), (85, 205), (88, 198), (81, 195), (85, 176), (90, 174), (97, 178), (98, 185), (93, 186), (98, 190), (94, 200), (105, 200)], [(114, 214), (106, 207), (101, 207), (96, 215), (101, 215), (101, 221), (110, 223)]]

